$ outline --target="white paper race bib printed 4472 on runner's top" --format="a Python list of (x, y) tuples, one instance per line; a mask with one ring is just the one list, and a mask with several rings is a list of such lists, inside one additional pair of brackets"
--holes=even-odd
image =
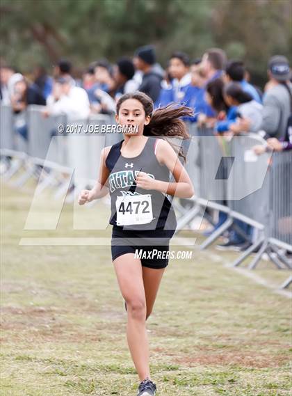
[(153, 220), (151, 194), (117, 196), (117, 225), (146, 224)]

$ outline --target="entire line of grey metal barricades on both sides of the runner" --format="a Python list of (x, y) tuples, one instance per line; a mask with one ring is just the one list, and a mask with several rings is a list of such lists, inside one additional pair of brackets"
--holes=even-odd
[[(26, 154), (38, 158), (38, 166), (40, 159), (47, 159), (60, 166), (75, 168), (77, 179), (90, 180), (92, 184), (99, 172), (102, 148), (122, 140), (122, 134), (60, 134), (58, 125), (62, 124), (65, 128), (66, 118), (44, 118), (41, 110), (42, 106), (28, 108)], [(10, 106), (1, 105), (0, 115), (1, 149), (7, 149), (6, 156), (13, 155), (13, 111)], [(70, 125), (77, 124), (82, 125), (81, 129), (84, 131), (88, 125), (113, 125), (115, 120), (111, 116), (97, 115), (91, 116), (88, 120), (70, 122)], [(234, 219), (264, 228), (265, 242), (251, 267), (255, 266), (268, 245), (282, 246), (289, 250), (292, 247), (291, 152), (274, 153), (269, 166), (270, 155), (257, 157), (252, 154), (252, 146), (263, 143), (257, 135), (236, 136), (231, 142), (227, 142), (224, 137), (216, 136), (213, 129), (202, 129), (195, 124), (188, 124), (188, 131), (191, 138), (186, 147), (186, 169), (195, 187), (195, 197), (190, 200), (193, 204), (191, 210), (186, 210), (180, 205), (182, 215), (179, 223), (190, 223), (207, 206), (227, 214), (227, 221), (213, 236), (211, 235), (211, 239), (207, 238), (204, 241), (202, 248), (209, 246), (227, 230), (234, 223)], [(56, 136), (56, 145), (54, 139), (51, 141), (52, 134)], [(11, 174), (14, 173), (12, 171)], [(25, 177), (22, 177), (22, 180), (25, 180)], [(22, 183), (18, 185), (21, 186)], [(175, 200), (174, 204), (177, 205), (177, 202)], [(249, 253), (251, 251), (245, 252), (245, 256), (236, 260), (234, 265), (240, 264)]]

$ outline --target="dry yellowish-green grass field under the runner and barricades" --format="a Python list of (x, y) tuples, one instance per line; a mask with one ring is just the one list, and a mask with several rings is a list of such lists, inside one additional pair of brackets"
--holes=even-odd
[[(23, 230), (33, 190), (1, 187), (1, 396), (136, 395), (109, 246), (19, 246), (104, 233), (72, 230), (70, 205), (58, 230)], [(225, 267), (234, 257), (170, 261), (147, 322), (157, 396), (291, 395), (291, 300)], [(255, 273), (288, 276), (269, 262)]]

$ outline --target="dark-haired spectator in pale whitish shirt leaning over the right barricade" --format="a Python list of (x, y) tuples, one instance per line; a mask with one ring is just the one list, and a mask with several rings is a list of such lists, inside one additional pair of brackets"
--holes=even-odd
[(223, 89), (225, 103), (230, 108), (236, 106), (236, 122), (229, 124), (229, 131), (233, 134), (240, 132), (256, 133), (263, 121), (263, 106), (252, 99), (252, 96), (243, 90), (238, 83), (229, 83)]

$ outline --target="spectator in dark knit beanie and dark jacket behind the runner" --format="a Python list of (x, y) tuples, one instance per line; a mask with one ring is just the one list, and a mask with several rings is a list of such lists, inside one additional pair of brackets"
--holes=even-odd
[(163, 70), (160, 65), (156, 65), (155, 49), (152, 45), (145, 45), (136, 50), (133, 58), (136, 69), (143, 72), (142, 82), (139, 86), (141, 92), (152, 98), (153, 102), (159, 98)]

